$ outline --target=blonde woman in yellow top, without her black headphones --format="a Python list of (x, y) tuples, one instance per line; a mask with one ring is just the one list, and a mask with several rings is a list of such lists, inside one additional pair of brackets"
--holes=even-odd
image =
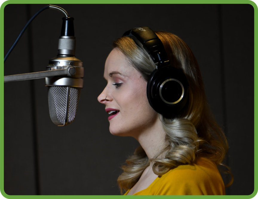
[[(149, 30), (143, 27), (133, 31), (143, 34)], [(141, 45), (145, 41), (127, 32), (114, 42), (105, 62), (107, 86), (98, 101), (105, 104), (110, 115), (110, 133), (131, 136), (140, 143), (122, 167), (124, 172), (118, 178), (121, 193), (224, 195), (217, 166), (224, 159), (228, 143), (208, 107), (197, 61), (179, 37), (155, 33), (169, 61), (154, 63), (152, 52)], [(158, 113), (150, 100), (152, 91), (148, 91), (153, 70), (164, 63), (182, 70), (187, 79), (187, 86), (182, 87), (187, 100), (179, 110), (168, 111), (171, 114)]]

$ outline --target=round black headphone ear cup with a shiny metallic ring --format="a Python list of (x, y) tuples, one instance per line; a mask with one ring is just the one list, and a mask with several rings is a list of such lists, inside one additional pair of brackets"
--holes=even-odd
[(147, 97), (152, 108), (165, 117), (175, 117), (188, 99), (188, 81), (175, 67), (156, 69), (147, 84)]

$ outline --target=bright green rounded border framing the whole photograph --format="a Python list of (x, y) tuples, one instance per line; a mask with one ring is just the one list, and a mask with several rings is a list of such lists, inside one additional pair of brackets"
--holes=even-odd
[[(256, 198), (257, 197), (257, 169), (254, 170), (254, 192), (251, 195), (225, 195), (225, 196), (121, 196), (121, 195), (7, 195), (4, 192), (4, 7), (7, 4), (70, 4), (70, 0), (8, 0), (1, 4), (0, 8), (0, 191), (4, 198), (122, 198), (122, 197), (134, 197), (134, 198)], [(156, 4), (155, 0), (73, 0), (73, 4)], [(250, 0), (159, 0), (159, 4), (251, 4), (254, 8), (254, 168), (258, 168), (258, 140), (257, 140), (257, 104), (256, 99), (258, 97), (257, 90), (257, 70), (258, 70), (258, 9), (257, 4)], [(0, 195), (1, 197), (1, 195)], [(258, 197), (257, 197), (258, 198)]]

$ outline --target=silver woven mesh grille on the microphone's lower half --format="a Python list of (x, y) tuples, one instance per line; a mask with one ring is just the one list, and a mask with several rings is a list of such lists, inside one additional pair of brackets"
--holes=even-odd
[(52, 122), (57, 126), (66, 126), (73, 122), (81, 88), (49, 86), (48, 106)]

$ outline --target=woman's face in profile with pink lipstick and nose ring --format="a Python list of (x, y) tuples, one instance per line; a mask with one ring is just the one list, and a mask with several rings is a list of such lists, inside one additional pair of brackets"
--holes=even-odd
[(98, 96), (108, 112), (111, 134), (137, 137), (158, 120), (158, 113), (148, 103), (147, 82), (131, 66), (125, 55), (113, 49), (105, 63), (107, 86)]

